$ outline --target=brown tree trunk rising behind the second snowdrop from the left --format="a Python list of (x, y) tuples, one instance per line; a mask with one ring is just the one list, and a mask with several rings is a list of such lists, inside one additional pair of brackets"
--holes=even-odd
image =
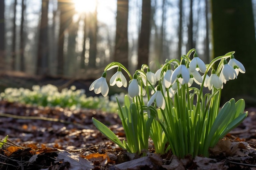
[(114, 61), (128, 68), (128, 0), (117, 0), (117, 26)]

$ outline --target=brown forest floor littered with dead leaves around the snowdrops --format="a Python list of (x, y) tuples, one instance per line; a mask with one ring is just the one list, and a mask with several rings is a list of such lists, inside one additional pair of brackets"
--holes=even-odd
[[(1, 170), (256, 170), (256, 108), (248, 108), (240, 126), (210, 150), (210, 158), (178, 159), (171, 151), (155, 154), (149, 141), (146, 157), (129, 154), (92, 124), (103, 122), (125, 139), (116, 114), (100, 110), (42, 108), (0, 102)], [(1, 144), (1, 143), (0, 143)]]

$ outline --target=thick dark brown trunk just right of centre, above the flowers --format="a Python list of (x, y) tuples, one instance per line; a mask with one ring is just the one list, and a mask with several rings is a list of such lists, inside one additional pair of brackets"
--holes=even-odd
[(150, 40), (150, 12), (151, 0), (142, 0), (141, 30), (139, 35), (138, 65), (148, 64), (149, 40)]

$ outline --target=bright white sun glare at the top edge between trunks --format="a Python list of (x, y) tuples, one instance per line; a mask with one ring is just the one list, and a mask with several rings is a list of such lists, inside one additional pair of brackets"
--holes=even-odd
[(96, 7), (97, 0), (74, 0), (75, 9), (79, 13), (93, 12)]

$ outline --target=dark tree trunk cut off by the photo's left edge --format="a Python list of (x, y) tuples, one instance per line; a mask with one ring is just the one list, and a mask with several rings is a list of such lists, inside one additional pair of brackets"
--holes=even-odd
[(4, 0), (0, 0), (0, 70), (5, 68), (5, 29), (4, 29)]

